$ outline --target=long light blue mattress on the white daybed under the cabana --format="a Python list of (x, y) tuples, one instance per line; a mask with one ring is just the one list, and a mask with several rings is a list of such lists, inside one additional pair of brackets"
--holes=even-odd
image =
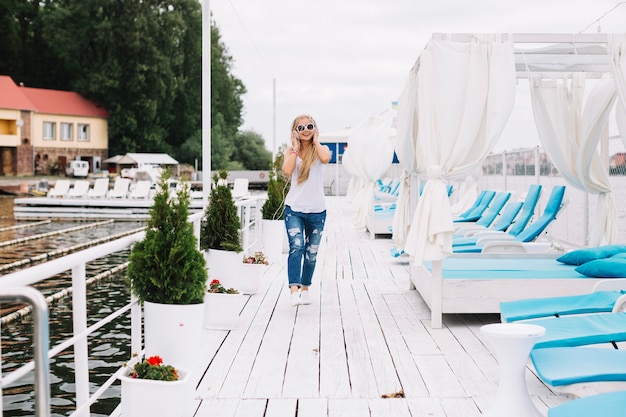
[[(424, 267), (432, 272), (432, 262)], [(442, 261), (443, 279), (507, 278), (581, 278), (575, 266), (555, 262), (554, 258), (465, 258), (448, 257)]]

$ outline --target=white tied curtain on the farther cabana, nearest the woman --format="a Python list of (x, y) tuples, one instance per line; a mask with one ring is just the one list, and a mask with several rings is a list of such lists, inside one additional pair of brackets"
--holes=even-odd
[(366, 227), (367, 218), (374, 211), (376, 180), (385, 174), (393, 162), (393, 116), (391, 110), (372, 116), (353, 130), (348, 138), (348, 149), (344, 151), (342, 162), (354, 180), (350, 192), (354, 208), (353, 223), (357, 230)]

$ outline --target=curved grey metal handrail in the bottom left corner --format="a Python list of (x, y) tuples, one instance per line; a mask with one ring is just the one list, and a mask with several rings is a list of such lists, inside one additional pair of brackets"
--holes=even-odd
[(32, 287), (5, 288), (0, 301), (26, 302), (33, 306), (33, 352), (35, 359), (35, 415), (50, 416), (50, 362), (48, 303), (44, 296)]

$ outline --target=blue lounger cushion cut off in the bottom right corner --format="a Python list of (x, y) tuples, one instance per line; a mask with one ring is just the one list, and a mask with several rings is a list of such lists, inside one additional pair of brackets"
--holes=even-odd
[(548, 410), (548, 417), (623, 417), (626, 391), (606, 392), (568, 401)]

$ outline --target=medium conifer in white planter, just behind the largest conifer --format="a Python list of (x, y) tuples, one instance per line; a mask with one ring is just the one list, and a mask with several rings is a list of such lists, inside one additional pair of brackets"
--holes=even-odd
[(209, 203), (200, 227), (200, 249), (205, 251), (209, 276), (237, 288), (241, 270), (241, 220), (231, 189), (228, 172), (213, 176)]

